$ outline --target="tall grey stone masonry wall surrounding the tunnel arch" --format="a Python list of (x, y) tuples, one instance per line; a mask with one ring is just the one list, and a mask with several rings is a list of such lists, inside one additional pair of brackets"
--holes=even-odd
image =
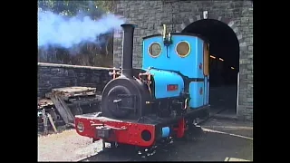
[[(137, 24), (134, 34), (133, 67), (142, 64), (142, 37), (159, 34), (161, 24), (176, 32), (187, 25), (204, 19), (219, 20), (237, 34), (240, 46), (240, 80), (237, 116), (253, 120), (253, 2), (252, 1), (213, 1), (213, 0), (160, 0), (160, 1), (116, 1), (114, 13), (123, 16), (126, 23)], [(170, 30), (170, 29), (169, 29)], [(121, 66), (121, 31), (114, 34), (114, 66)]]

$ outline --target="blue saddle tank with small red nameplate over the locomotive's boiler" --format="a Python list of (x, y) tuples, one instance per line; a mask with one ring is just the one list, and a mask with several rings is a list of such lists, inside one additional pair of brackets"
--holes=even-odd
[(175, 72), (149, 69), (153, 75), (155, 85), (154, 96), (156, 99), (179, 97), (184, 90), (182, 77)]

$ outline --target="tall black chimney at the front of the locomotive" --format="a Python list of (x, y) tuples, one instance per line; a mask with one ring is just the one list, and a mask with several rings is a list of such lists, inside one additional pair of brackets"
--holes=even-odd
[(133, 59), (133, 36), (135, 24), (121, 24), (123, 29), (123, 40), (122, 40), (122, 65), (121, 73), (127, 78), (131, 78), (132, 75), (132, 59)]

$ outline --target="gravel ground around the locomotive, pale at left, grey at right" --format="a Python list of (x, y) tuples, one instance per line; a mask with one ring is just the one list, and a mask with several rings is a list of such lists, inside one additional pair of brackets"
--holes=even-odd
[[(190, 140), (175, 141), (150, 158), (155, 161), (224, 161), (226, 158), (253, 160), (253, 125), (233, 120), (208, 120), (203, 131)], [(217, 131), (218, 130), (218, 131)], [(138, 160), (131, 149), (107, 149), (100, 141), (79, 136), (73, 129), (38, 139), (39, 161), (71, 161), (94, 155), (89, 161)]]

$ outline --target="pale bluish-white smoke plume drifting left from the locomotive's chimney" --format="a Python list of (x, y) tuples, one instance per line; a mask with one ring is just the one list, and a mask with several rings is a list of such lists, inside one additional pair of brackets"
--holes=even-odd
[(124, 20), (114, 14), (104, 14), (96, 21), (89, 16), (64, 17), (38, 11), (38, 47), (72, 48), (79, 43), (97, 43), (97, 36), (121, 29)]

